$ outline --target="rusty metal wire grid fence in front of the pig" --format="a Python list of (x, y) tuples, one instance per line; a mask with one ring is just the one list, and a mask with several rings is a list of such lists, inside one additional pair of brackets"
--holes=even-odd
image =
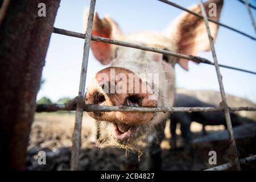
[[(231, 123), (230, 114), (229, 114), (230, 111), (241, 111), (241, 110), (256, 111), (256, 107), (229, 107), (228, 106), (227, 100), (226, 100), (226, 94), (224, 91), (224, 86), (222, 83), (220, 67), (234, 69), (237, 71), (247, 72), (247, 73), (251, 73), (251, 74), (256, 74), (256, 72), (247, 71), (245, 69), (240, 69), (240, 68), (230, 67), (227, 65), (218, 64), (218, 60), (217, 60), (216, 52), (214, 49), (212, 36), (210, 34), (208, 22), (216, 23), (222, 27), (228, 28), (229, 30), (235, 31), (238, 34), (246, 36), (247, 38), (250, 38), (252, 40), (256, 40), (256, 38), (253, 36), (250, 36), (248, 34), (245, 34), (244, 32), (237, 30), (236, 28), (227, 26), (226, 24), (216, 22), (215, 20), (212, 20), (212, 19), (208, 19), (202, 0), (200, 0), (200, 7), (201, 7), (202, 15), (197, 14), (191, 10), (185, 9), (182, 6), (179, 6), (176, 3), (173, 3), (173, 2), (170, 2), (167, 0), (158, 0), (158, 1), (164, 2), (164, 3), (174, 6), (174, 7), (177, 7), (181, 10), (187, 11), (190, 14), (193, 14), (195, 16), (198, 16), (199, 18), (204, 19), (205, 27), (207, 28), (207, 33), (208, 33), (209, 42), (210, 42), (210, 48), (212, 51), (212, 56), (213, 56), (214, 62), (209, 61), (209, 60), (204, 59), (203, 57), (199, 57), (199, 56), (184, 55), (181, 53), (167, 51), (164, 49), (147, 47), (147, 46), (142, 46), (139, 44), (122, 42), (120, 40), (113, 40), (113, 39), (93, 36), (92, 35), (92, 26), (93, 26), (93, 17), (94, 17), (94, 9), (95, 9), (95, 5), (96, 5), (96, 0), (90, 0), (88, 24), (87, 24), (85, 34), (81, 34), (78, 32), (72, 32), (72, 31), (68, 31), (68, 30), (63, 30), (60, 28), (53, 29), (53, 32), (56, 34), (62, 34), (62, 35), (73, 36), (76, 38), (85, 39), (84, 53), (83, 53), (83, 57), (82, 57), (81, 75), (80, 75), (79, 94), (76, 97), (76, 105), (73, 105), (73, 106), (67, 106), (66, 104), (38, 105), (37, 109), (36, 109), (36, 111), (38, 111), (38, 112), (42, 112), (42, 111), (51, 112), (51, 111), (58, 111), (58, 110), (76, 110), (76, 122), (75, 122), (75, 129), (73, 132), (73, 139), (72, 139), (72, 143), (73, 143), (72, 144), (72, 156), (71, 156), (71, 169), (72, 170), (79, 169), (79, 154), (80, 154), (80, 144), (81, 144), (81, 123), (82, 123), (83, 111), (105, 111), (105, 112), (108, 112), (108, 111), (146, 111), (146, 112), (147, 111), (155, 111), (155, 112), (224, 111), (226, 125), (228, 126), (229, 141), (230, 141), (230, 146), (229, 146), (230, 163), (223, 164), (218, 167), (210, 168), (208, 170), (224, 170), (224, 169), (228, 169), (231, 167), (236, 167), (237, 170), (240, 170), (241, 169), (240, 163), (245, 164), (246, 162), (256, 159), (256, 155), (249, 156), (248, 158), (245, 158), (245, 159), (238, 159), (238, 151), (237, 151), (236, 141), (234, 138), (232, 123)], [(246, 0), (241, 1), (241, 2), (245, 3), (247, 10), (249, 11), (249, 14), (250, 14), (251, 22), (253, 23), (253, 26), (255, 27), (253, 16), (251, 15), (251, 12), (250, 12), (250, 8), (255, 9), (255, 7), (253, 5), (248, 4)], [(255, 30), (255, 32), (256, 32), (256, 30)], [(171, 55), (171, 56), (175, 56), (175, 57), (179, 57), (179, 58), (183, 58), (183, 59), (187, 59), (187, 60), (192, 60), (192, 61), (195, 61), (196, 63), (214, 65), (214, 67), (216, 68), (216, 73), (217, 73), (217, 77), (218, 77), (218, 84), (220, 87), (220, 94), (221, 94), (221, 99), (222, 99), (221, 103), (222, 104), (217, 107), (130, 107), (130, 106), (85, 105), (84, 104), (85, 81), (86, 81), (86, 72), (87, 72), (87, 67), (88, 67), (88, 56), (89, 56), (89, 48), (90, 48), (91, 40), (96, 41), (96, 42), (115, 44), (118, 46), (142, 49), (144, 51), (163, 53), (165, 55)]]

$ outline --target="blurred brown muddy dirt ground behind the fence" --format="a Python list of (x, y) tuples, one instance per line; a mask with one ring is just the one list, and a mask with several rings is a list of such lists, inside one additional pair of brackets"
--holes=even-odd
[[(71, 159), (72, 132), (75, 122), (73, 113), (37, 113), (32, 125), (30, 143), (28, 145), (27, 170), (69, 170)], [(209, 166), (208, 160), (202, 156), (208, 155), (207, 150), (193, 148), (193, 154), (189, 153), (183, 147), (182, 139), (178, 138), (176, 149), (170, 144), (170, 122), (167, 122), (165, 135), (166, 138), (161, 143), (162, 148), (162, 169), (163, 170), (203, 170), (214, 166)], [(192, 122), (191, 130), (193, 138), (201, 137), (202, 126), (199, 123)], [(207, 126), (208, 133), (214, 133), (224, 130), (224, 126)], [(179, 126), (177, 134), (180, 134)], [(142, 155), (138, 160), (138, 154), (130, 152), (126, 155), (125, 150), (113, 147), (98, 149), (95, 146), (96, 126), (95, 123), (86, 114), (82, 123), (82, 143), (80, 164), (81, 170), (144, 170), (147, 169), (148, 155)], [(250, 150), (242, 152), (242, 155), (248, 156), (255, 154), (255, 147), (251, 144), (255, 140), (246, 143)], [(224, 143), (225, 144), (225, 143)], [(218, 158), (217, 166), (228, 162), (227, 148), (228, 144), (221, 144), (224, 148), (221, 157)], [(243, 142), (244, 144), (244, 142)], [(206, 145), (209, 145), (207, 143)], [(214, 143), (216, 148), (220, 144)], [(200, 146), (202, 147), (202, 146)], [(208, 146), (205, 146), (206, 148)], [(244, 148), (244, 146), (243, 146)], [(38, 164), (38, 152), (46, 152), (46, 165)], [(256, 169), (256, 164), (250, 164), (250, 167), (243, 169)]]

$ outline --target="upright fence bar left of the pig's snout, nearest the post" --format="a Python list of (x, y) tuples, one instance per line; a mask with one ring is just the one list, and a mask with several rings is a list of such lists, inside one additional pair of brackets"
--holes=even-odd
[(77, 97), (77, 106), (76, 106), (76, 122), (75, 122), (73, 138), (72, 138), (71, 170), (79, 170), (79, 154), (80, 154), (80, 147), (81, 147), (82, 114), (84, 111), (85, 81), (86, 81), (86, 73), (87, 73), (88, 58), (89, 58), (90, 40), (92, 38), (92, 26), (93, 26), (95, 4), (96, 4), (96, 0), (90, 1), (88, 23), (87, 23), (87, 28), (85, 32), (84, 54), (82, 55), (82, 68), (81, 68), (81, 75), (80, 75), (79, 95)]

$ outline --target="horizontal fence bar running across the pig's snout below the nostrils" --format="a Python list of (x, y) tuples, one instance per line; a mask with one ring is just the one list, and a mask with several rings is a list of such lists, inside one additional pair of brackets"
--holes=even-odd
[[(36, 112), (55, 112), (59, 110), (72, 111), (76, 106), (67, 106), (65, 104), (38, 104)], [(230, 111), (256, 111), (256, 107), (229, 107)], [(84, 105), (84, 111), (143, 111), (143, 112), (199, 112), (199, 111), (224, 111), (224, 107), (131, 107), (131, 106), (100, 106)]]

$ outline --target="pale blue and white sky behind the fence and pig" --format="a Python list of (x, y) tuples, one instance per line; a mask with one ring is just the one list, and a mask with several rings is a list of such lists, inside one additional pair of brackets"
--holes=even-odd
[[(83, 16), (89, 7), (89, 0), (62, 0), (54, 26), (66, 30), (83, 32)], [(197, 0), (173, 1), (188, 7), (199, 3)], [(256, 6), (256, 1), (250, 3)], [(96, 11), (102, 18), (112, 17), (124, 33), (162, 31), (183, 11), (156, 0), (97, 0)], [(251, 10), (256, 20), (256, 11)], [(226, 0), (220, 22), (255, 36), (245, 5), (237, 0)], [(46, 96), (57, 101), (60, 97), (75, 97), (78, 94), (80, 69), (84, 40), (52, 34), (49, 44), (43, 78), (46, 79), (38, 93), (38, 99)], [(215, 44), (218, 62), (256, 72), (256, 42), (220, 27)], [(210, 52), (199, 56), (211, 61)], [(87, 83), (94, 73), (105, 66), (98, 63), (92, 52), (89, 54)], [(189, 71), (176, 65), (177, 86), (189, 90), (219, 90), (215, 68), (211, 65), (189, 63)], [(245, 97), (256, 102), (256, 75), (221, 68), (226, 93)], [(87, 84), (86, 84), (87, 85)]]

